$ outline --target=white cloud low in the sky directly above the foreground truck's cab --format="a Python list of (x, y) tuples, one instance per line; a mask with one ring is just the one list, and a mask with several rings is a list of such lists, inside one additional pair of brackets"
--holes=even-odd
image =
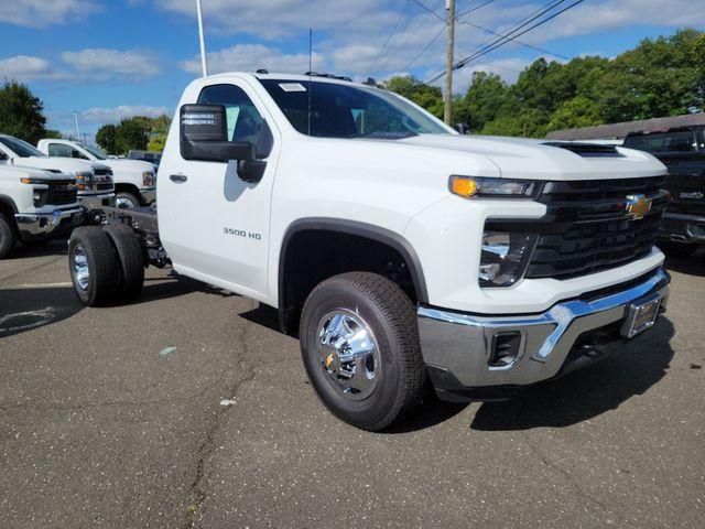
[[(321, 69), (324, 57), (313, 54), (313, 68)], [(200, 74), (200, 58), (184, 61), (182, 68), (192, 74)], [(208, 73), (254, 72), (264, 68), (270, 72), (303, 74), (308, 69), (308, 54), (286, 54), (262, 44), (237, 44), (232, 47), (208, 53)]]

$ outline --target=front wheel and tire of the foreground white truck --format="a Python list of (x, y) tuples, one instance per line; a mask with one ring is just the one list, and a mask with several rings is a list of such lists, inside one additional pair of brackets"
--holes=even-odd
[(306, 300), (300, 336), (312, 385), (345, 422), (379, 431), (420, 403), (426, 370), (416, 314), (392, 281), (368, 272), (323, 281)]

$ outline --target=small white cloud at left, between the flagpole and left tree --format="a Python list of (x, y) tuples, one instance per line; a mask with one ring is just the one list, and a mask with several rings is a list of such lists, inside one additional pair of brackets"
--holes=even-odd
[(106, 50), (90, 47), (64, 52), (62, 60), (85, 76), (97, 80), (110, 78), (150, 78), (161, 73), (155, 55), (145, 50)]

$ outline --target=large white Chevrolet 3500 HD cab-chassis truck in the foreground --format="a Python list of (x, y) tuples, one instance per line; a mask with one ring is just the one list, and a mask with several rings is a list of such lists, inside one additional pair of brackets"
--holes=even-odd
[(186, 88), (159, 171), (156, 212), (74, 230), (82, 302), (139, 295), (151, 263), (276, 307), (362, 429), (426, 387), (497, 400), (561, 377), (668, 301), (665, 169), (644, 152), (459, 136), (372, 86), (224, 74)]

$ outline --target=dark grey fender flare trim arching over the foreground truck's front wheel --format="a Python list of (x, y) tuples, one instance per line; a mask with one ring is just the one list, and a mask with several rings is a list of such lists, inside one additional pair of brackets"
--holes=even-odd
[(279, 277), (278, 277), (278, 291), (279, 291), (279, 319), (282, 325), (284, 325), (284, 266), (286, 255), (289, 252), (289, 245), (292, 238), (301, 233), (308, 230), (326, 230), (337, 231), (340, 234), (349, 234), (358, 237), (365, 237), (377, 242), (393, 248), (404, 259), (409, 267), (409, 273), (416, 292), (416, 298), (420, 303), (429, 303), (429, 293), (426, 290), (426, 281), (423, 274), (423, 268), (421, 260), (416, 255), (413, 246), (403, 238), (401, 235), (391, 231), (386, 228), (380, 228), (371, 224), (359, 223), (357, 220), (348, 220), (343, 218), (328, 218), (328, 217), (307, 217), (294, 220), (289, 225), (282, 239), (281, 251), (279, 253)]

